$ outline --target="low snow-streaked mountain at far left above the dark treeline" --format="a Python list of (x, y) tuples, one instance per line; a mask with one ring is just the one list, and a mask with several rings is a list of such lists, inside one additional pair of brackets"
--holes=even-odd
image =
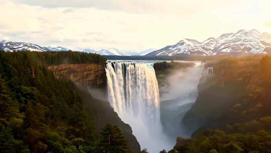
[(37, 44), (26, 42), (12, 42), (12, 41), (0, 41), (0, 50), (4, 51), (68, 51), (69, 49), (64, 47), (42, 47)]

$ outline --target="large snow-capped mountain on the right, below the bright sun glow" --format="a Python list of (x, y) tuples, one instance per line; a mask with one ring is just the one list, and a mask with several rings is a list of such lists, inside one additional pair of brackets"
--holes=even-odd
[(271, 53), (271, 39), (268, 33), (257, 30), (239, 30), (236, 33), (222, 34), (218, 38), (208, 38), (203, 42), (184, 39), (175, 45), (153, 51), (147, 56), (155, 55), (248, 55)]

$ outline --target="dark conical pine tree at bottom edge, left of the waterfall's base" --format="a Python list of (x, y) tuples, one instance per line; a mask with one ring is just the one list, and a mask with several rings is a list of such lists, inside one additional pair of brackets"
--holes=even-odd
[(127, 141), (122, 135), (120, 129), (111, 124), (106, 124), (100, 142), (102, 152), (122, 153), (127, 152)]

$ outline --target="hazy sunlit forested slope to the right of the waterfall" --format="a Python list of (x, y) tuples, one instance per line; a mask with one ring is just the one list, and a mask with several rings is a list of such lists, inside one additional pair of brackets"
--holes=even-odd
[(270, 152), (271, 56), (228, 57), (209, 66), (214, 75), (202, 78), (183, 120), (198, 130), (178, 137), (169, 152)]

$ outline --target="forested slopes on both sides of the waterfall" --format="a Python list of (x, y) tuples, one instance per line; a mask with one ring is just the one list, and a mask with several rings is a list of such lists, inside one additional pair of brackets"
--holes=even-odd
[[(112, 111), (102, 116), (109, 105), (47, 69), (59, 63), (105, 61), (100, 55), (79, 52), (1, 51), (1, 151), (136, 152), (128, 145), (126, 131), (117, 125), (104, 123), (97, 128), (98, 120), (116, 115)], [(154, 67), (167, 71), (174, 65), (162, 62)], [(182, 122), (196, 131), (191, 138), (178, 137), (169, 152), (270, 152), (271, 56), (227, 57), (205, 66), (212, 66), (214, 75), (201, 80), (199, 97)], [(229, 92), (232, 89), (236, 90)], [(217, 96), (205, 99), (210, 92)], [(221, 101), (221, 95), (232, 99)], [(188, 118), (204, 122), (195, 127)]]

